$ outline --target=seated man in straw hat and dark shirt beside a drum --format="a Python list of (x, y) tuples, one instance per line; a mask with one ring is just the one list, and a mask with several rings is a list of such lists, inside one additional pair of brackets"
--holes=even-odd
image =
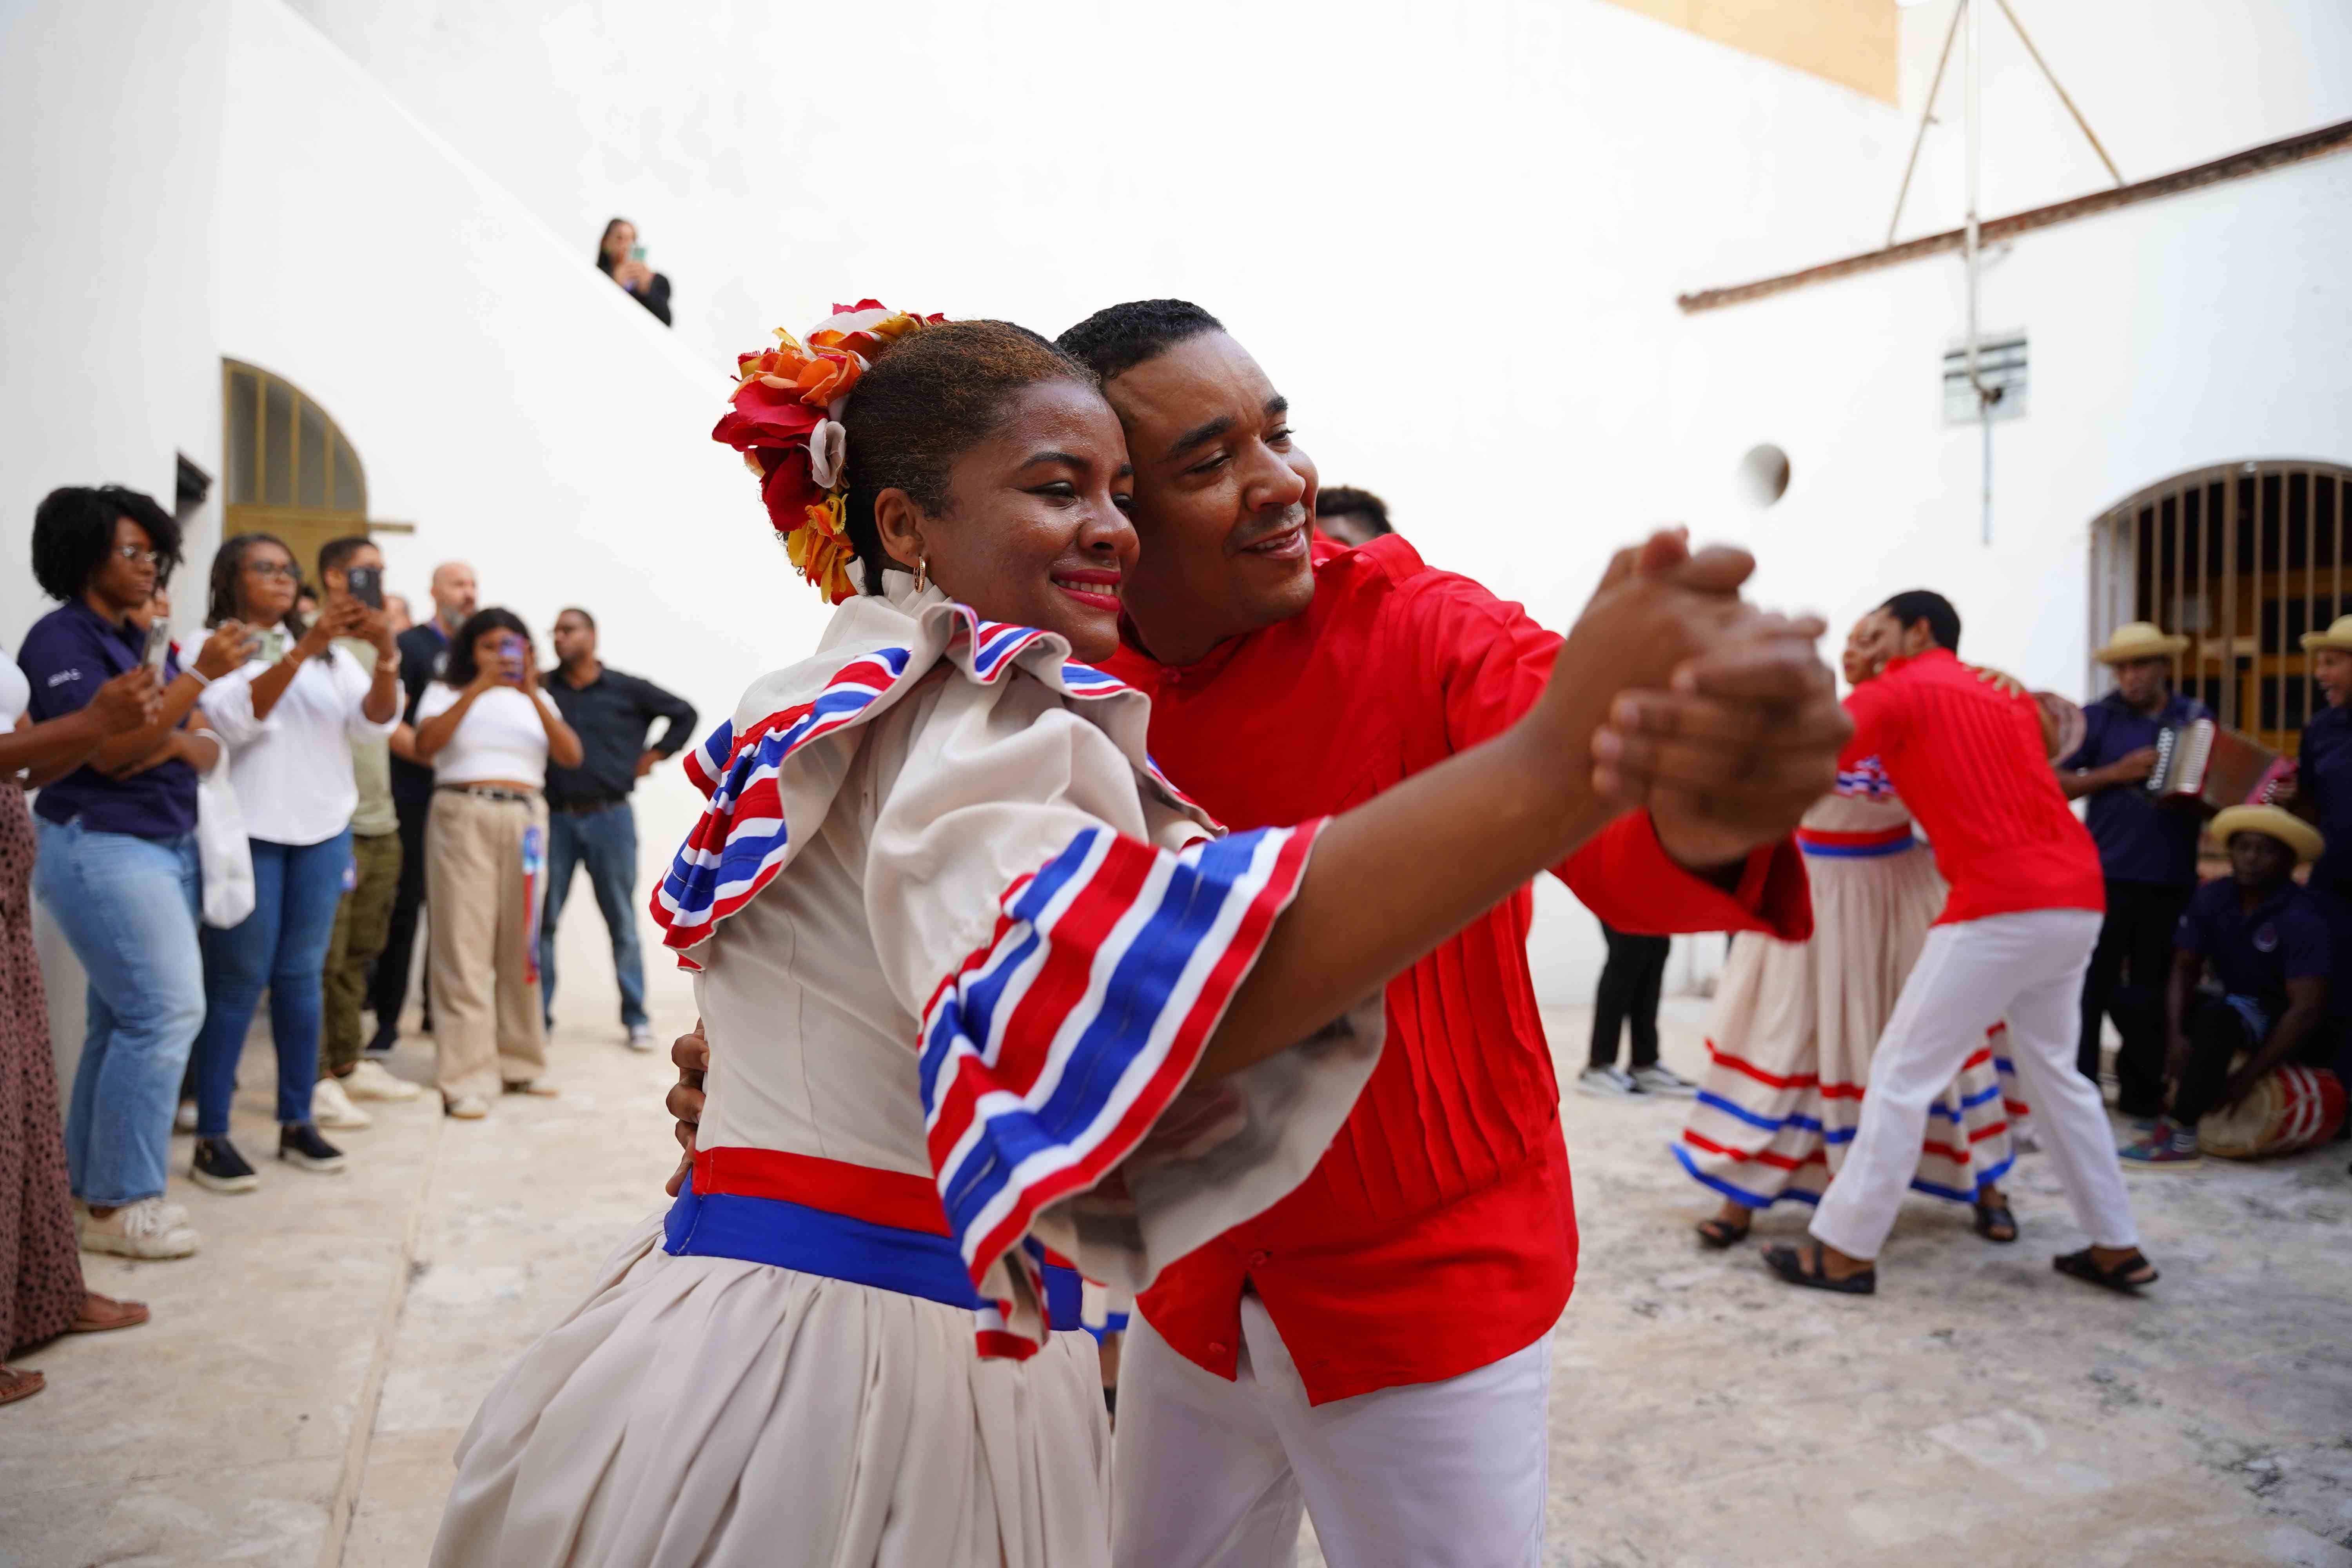
[[(2317, 860), (2326, 842), (2277, 806), (2230, 806), (2213, 818), (2213, 837), (2230, 846), (2230, 877), (2190, 898), (2166, 994), (2173, 1110), (2122, 1152), (2126, 1171), (2204, 1164), (2197, 1124), (2209, 1112), (2244, 1100), (2272, 1067), (2324, 1067), (2336, 1048), (2326, 1027), (2331, 922), (2319, 896), (2296, 886), (2296, 863)], [(2197, 994), (2209, 966), (2220, 997)]]

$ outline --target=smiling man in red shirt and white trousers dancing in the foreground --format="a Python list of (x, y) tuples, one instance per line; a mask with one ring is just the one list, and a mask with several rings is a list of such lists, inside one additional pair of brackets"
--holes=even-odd
[[(1136, 463), (1143, 550), (1110, 668), (1150, 693), (1157, 762), (1211, 813), (1345, 811), (1536, 701), (1559, 637), (1517, 604), (1395, 536), (1312, 538), (1289, 404), (1209, 313), (1115, 306), (1061, 348), (1103, 376)], [(1710, 745), (1755, 752), (1745, 788), (1656, 792), (1557, 870), (1609, 924), (1811, 929), (1788, 832), (1844, 726), (1811, 642), (1780, 654), (1804, 682), (1778, 703), (1621, 698), (1677, 708), (1689, 731), (1651, 757), (1656, 778)], [(1613, 745), (1595, 743), (1604, 773)], [(1576, 1213), (1529, 917), (1522, 889), (1397, 976), (1381, 1065), (1315, 1173), (1143, 1293), (1122, 1363), (1120, 1563), (1289, 1563), (1301, 1507), (1343, 1563), (1541, 1559)]]

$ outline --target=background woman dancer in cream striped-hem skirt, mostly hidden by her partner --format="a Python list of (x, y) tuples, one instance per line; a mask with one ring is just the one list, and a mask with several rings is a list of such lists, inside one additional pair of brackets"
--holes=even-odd
[[(1856, 684), (1872, 675), (1851, 635), (1844, 670)], [(1755, 1211), (1780, 1199), (1820, 1201), (1860, 1124), (1879, 1032), (1947, 891), (1875, 762), (1839, 773), (1837, 792), (1804, 816), (1797, 846), (1813, 884), (1813, 940), (1748, 931), (1731, 940), (1708, 1074), (1672, 1145), (1682, 1168), (1724, 1199), (1698, 1227), (1708, 1246), (1738, 1244)], [(1929, 1107), (1912, 1187), (1971, 1204), (1983, 1237), (2016, 1241), (1999, 1180), (2013, 1164), (2011, 1112), (2025, 1107), (2004, 1093), (2002, 1044), (1994, 1027)]]

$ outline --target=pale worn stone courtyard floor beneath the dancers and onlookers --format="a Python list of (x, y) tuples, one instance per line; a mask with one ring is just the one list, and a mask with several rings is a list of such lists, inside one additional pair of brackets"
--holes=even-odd
[[(682, 1023), (682, 994), (656, 1013)], [(1700, 1004), (1668, 1013), (1668, 1060), (1696, 1072)], [(1552, 1030), (1571, 1058), (1583, 1016)], [(407, 1041), (395, 1070), (428, 1058)], [(0, 1568), (421, 1563), (485, 1387), (670, 1168), (661, 1058), (574, 1023), (555, 1065), (560, 1100), (487, 1124), (376, 1107), (339, 1178), (174, 1180), (198, 1258), (89, 1260), (155, 1321), (19, 1359), (49, 1392), (0, 1413)], [(268, 1084), (256, 1048), (254, 1154)], [(1882, 1293), (1844, 1300), (1773, 1284), (1752, 1246), (1696, 1246), (1712, 1204), (1665, 1154), (1677, 1105), (1571, 1093), (1564, 1114), (1585, 1253), (1557, 1331), (1555, 1563), (2352, 1566), (2340, 1147), (2136, 1182), (2164, 1267), (2147, 1300), (2051, 1274), (2079, 1237), (2037, 1157), (2018, 1246), (1915, 1199)]]

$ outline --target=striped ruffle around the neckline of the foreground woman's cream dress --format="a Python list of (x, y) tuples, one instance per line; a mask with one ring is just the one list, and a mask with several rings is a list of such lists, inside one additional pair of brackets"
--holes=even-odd
[[(875, 614), (880, 602), (851, 599), (842, 614)], [(891, 607), (882, 607), (889, 614)], [(764, 717), (741, 715), (713, 729), (687, 752), (687, 778), (706, 795), (703, 816), (670, 860), (668, 875), (654, 889), (652, 914), (661, 943), (680, 954), (680, 966), (696, 969), (689, 952), (729, 914), (774, 879), (790, 860), (795, 842), (786, 792), (790, 759), (814, 741), (863, 724), (906, 696), (941, 658), (955, 663), (969, 679), (995, 684), (1011, 670), (1028, 670), (1063, 696), (1084, 701), (1134, 698), (1129, 724), (1112, 729), (1136, 764), (1136, 771), (1162, 790), (1169, 804), (1216, 830), (1216, 818), (1185, 799), (1143, 750), (1150, 710), (1141, 693), (1115, 675), (1065, 658), (1068, 644), (1056, 632), (1004, 621), (983, 621), (953, 602), (929, 604), (901, 625), (917, 632), (908, 644), (875, 646), (842, 658), (814, 682), (807, 701), (788, 703)], [(920, 649), (920, 651), (917, 651)], [(809, 689), (807, 684), (802, 686)], [(1105, 729), (1110, 729), (1105, 724)], [(1131, 733), (1120, 733), (1122, 729)], [(802, 799), (802, 811), (809, 804)], [(809, 832), (809, 823), (802, 832)]]

